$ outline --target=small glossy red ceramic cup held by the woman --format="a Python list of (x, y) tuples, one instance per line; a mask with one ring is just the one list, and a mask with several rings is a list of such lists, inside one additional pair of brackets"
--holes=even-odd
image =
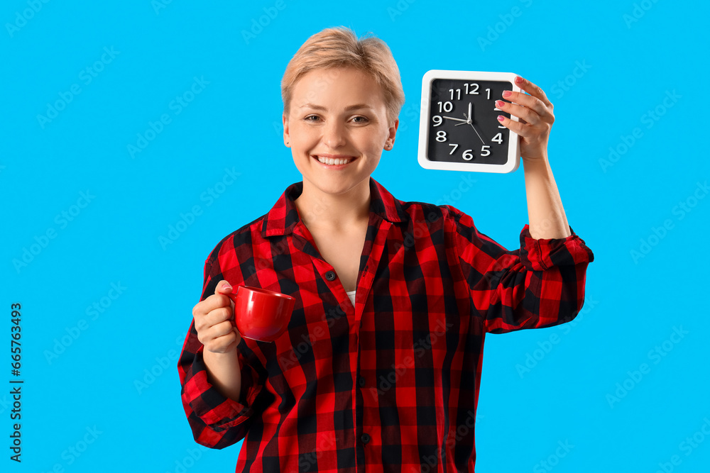
[(260, 287), (237, 286), (236, 294), (224, 294), (234, 301), (236, 330), (244, 338), (273, 342), (288, 328), (295, 299)]

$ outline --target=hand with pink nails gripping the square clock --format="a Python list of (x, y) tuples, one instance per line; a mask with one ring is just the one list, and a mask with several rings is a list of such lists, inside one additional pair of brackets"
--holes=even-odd
[[(552, 115), (552, 104), (547, 100), (545, 92), (523, 77), (515, 77), (515, 84), (523, 91), (513, 92), (506, 96), (508, 91), (503, 92), (503, 100), (496, 101), (496, 107), (502, 111), (517, 116), (520, 121), (510, 120), (503, 117), (501, 124), (506, 128), (518, 133), (520, 140), (520, 158), (525, 162), (538, 162), (547, 160), (547, 138), (550, 137), (552, 123), (555, 116)], [(528, 92), (527, 95), (525, 92)]]

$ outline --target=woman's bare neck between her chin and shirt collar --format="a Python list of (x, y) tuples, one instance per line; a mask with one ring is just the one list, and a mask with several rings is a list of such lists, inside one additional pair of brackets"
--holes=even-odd
[(323, 192), (306, 179), (294, 204), (307, 228), (339, 231), (367, 222), (370, 214), (370, 179), (342, 194)]

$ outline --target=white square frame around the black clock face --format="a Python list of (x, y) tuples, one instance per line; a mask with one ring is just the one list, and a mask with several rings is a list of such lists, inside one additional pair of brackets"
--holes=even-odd
[[(425, 169), (440, 169), (445, 171), (471, 171), (471, 172), (514, 172), (520, 166), (520, 138), (518, 133), (510, 130), (510, 140), (508, 140), (508, 160), (502, 165), (482, 164), (478, 162), (448, 162), (431, 161), (427, 158), (427, 145), (429, 143), (430, 131), (430, 105), (432, 93), (432, 81), (434, 79), (459, 79), (470, 80), (471, 82), (493, 80), (510, 81), (513, 84), (513, 91), (520, 92), (521, 89), (515, 85), (515, 77), (518, 74), (513, 72), (485, 72), (485, 71), (452, 71), (443, 69), (432, 69), (427, 71), (422, 78), (422, 106), (420, 108), (419, 125), (419, 152), (418, 160), (421, 167)], [(503, 100), (503, 97), (501, 97)], [(519, 121), (517, 116), (510, 114), (510, 119)], [(508, 128), (506, 128), (508, 129)]]

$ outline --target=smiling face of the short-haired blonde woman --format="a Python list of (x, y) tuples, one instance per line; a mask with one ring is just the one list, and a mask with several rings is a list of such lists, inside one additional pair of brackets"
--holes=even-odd
[[(288, 142), (306, 185), (327, 194), (368, 186), (384, 149), (391, 149), (399, 120), (387, 123), (381, 87), (351, 67), (315, 69), (293, 88), (283, 116)], [(317, 157), (347, 159), (323, 164)]]

